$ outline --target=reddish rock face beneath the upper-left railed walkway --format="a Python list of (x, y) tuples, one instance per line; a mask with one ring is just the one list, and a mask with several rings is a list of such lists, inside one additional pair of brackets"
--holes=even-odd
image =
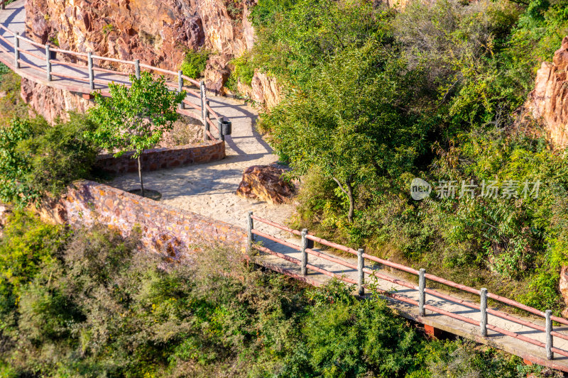
[(67, 121), (69, 118), (67, 111), (82, 113), (92, 106), (91, 101), (83, 99), (79, 94), (45, 87), (24, 78), (21, 80), (21, 97), (30, 105), (31, 116), (34, 116), (35, 111), (50, 123), (58, 117)]

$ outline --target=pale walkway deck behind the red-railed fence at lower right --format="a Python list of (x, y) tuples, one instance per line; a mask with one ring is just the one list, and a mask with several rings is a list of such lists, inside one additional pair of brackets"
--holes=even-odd
[[(283, 231), (280, 228), (271, 227), (258, 221), (254, 221), (254, 228), (263, 230), (264, 233), (278, 235), (277, 238), (282, 239), (286, 243), (295, 245), (298, 248), (300, 247), (300, 239), (297, 238), (297, 236), (289, 234), (288, 238), (283, 238)], [(285, 245), (282, 245), (281, 243), (276, 243), (273, 240), (269, 240), (268, 238), (255, 236), (255, 242), (259, 242), (263, 247), (268, 248), (269, 250), (280, 252), (281, 254), (285, 255), (285, 257), (293, 257), (297, 260), (301, 260), (302, 258), (302, 253), (297, 250), (297, 248), (287, 247)], [(334, 254), (333, 251), (329, 249), (321, 250), (316, 248), (315, 250), (322, 252), (325, 255), (337, 257), (337, 254)], [(349, 265), (353, 265), (354, 267), (356, 267), (357, 265), (356, 258), (345, 257), (344, 255), (338, 258), (340, 260), (343, 260), (344, 262), (347, 262)], [(322, 274), (321, 272), (315, 272), (313, 270), (310, 271), (310, 269), (308, 269), (307, 276), (302, 276), (299, 265), (265, 252), (260, 252), (260, 255), (257, 257), (257, 259), (259, 264), (264, 265), (269, 269), (276, 270), (283, 274), (288, 274), (291, 277), (300, 279), (304, 282), (307, 282), (308, 284), (315, 286), (320, 286), (321, 284), (328, 282), (329, 279), (332, 279), (327, 274)], [(346, 278), (347, 281), (356, 282), (358, 279), (358, 271), (356, 269), (353, 269), (352, 267), (345, 267), (342, 264), (330, 262), (329, 260), (326, 260), (324, 258), (315, 257), (312, 255), (308, 255), (308, 262), (311, 265), (314, 265), (315, 267), (320, 269), (324, 269), (327, 272), (342, 275)], [(367, 259), (365, 260), (365, 268), (371, 269), (373, 272), (378, 272), (379, 274), (384, 274), (391, 279), (400, 279), (403, 282), (414, 283), (415, 285), (417, 285), (417, 280), (409, 281), (408, 275), (403, 277), (396, 269), (392, 269), (381, 264), (376, 264)], [(372, 283), (376, 285), (376, 287), (380, 290), (390, 291), (391, 293), (397, 296), (401, 296), (404, 299), (409, 299), (410, 301), (419, 301), (419, 291), (417, 290), (417, 288), (411, 289), (401, 284), (395, 284), (386, 279), (376, 279), (375, 277), (371, 277), (371, 275), (367, 273), (364, 274), (364, 279), (366, 284)], [(479, 305), (479, 296), (474, 296), (473, 294), (469, 295), (463, 292), (452, 292), (450, 294), (449, 291), (444, 291), (444, 289), (437, 289), (437, 291), (439, 291), (439, 293), (441, 293), (444, 298), (426, 294), (427, 305), (433, 306), (442, 311), (448, 311), (449, 313), (452, 313), (454, 315), (473, 319), (476, 324), (479, 324), (479, 322), (481, 321), (481, 312), (477, 309), (471, 308), (470, 306), (465, 306), (462, 302), (469, 301)], [(366, 291), (366, 295), (370, 295), (368, 291)], [(454, 297), (454, 300), (449, 300), (446, 296), (452, 296)], [(468, 338), (469, 340), (474, 340), (478, 343), (491, 345), (494, 348), (504, 350), (539, 365), (544, 365), (547, 367), (552, 367), (553, 369), (559, 369), (564, 372), (568, 372), (568, 357), (555, 354), (553, 360), (547, 360), (545, 348), (539, 347), (537, 345), (532, 345), (523, 340), (518, 340), (518, 338), (513, 338), (510, 337), (510, 335), (504, 335), (503, 333), (499, 333), (491, 329), (487, 330), (487, 337), (481, 337), (480, 327), (477, 325), (474, 326), (464, 321), (459, 321), (457, 319), (441, 315), (439, 313), (436, 313), (435, 311), (430, 311), (428, 309), (425, 311), (425, 316), (420, 316), (417, 306), (405, 303), (405, 301), (400, 301), (388, 297), (386, 298), (389, 301), (389, 305), (405, 318), (417, 321), (418, 323), (422, 323), (427, 326), (432, 326), (434, 328), (447, 331), (449, 333), (453, 333), (454, 335)], [(518, 313), (513, 314), (510, 313), (510, 311), (508, 311), (506, 307), (507, 306), (500, 306), (499, 308), (496, 308), (488, 306), (488, 308), (498, 309), (500, 311), (503, 311), (504, 313), (510, 314), (511, 318), (517, 318), (520, 321), (531, 322), (537, 326), (541, 326), (542, 328), (545, 327), (544, 318), (533, 316), (530, 313), (526, 313), (525, 315), (519, 315)], [(533, 340), (537, 340), (538, 342), (542, 343), (542, 345), (546, 343), (545, 332), (541, 330), (535, 330), (528, 326), (523, 326), (509, 319), (488, 314), (488, 324), (502, 328), (503, 330), (506, 330), (510, 333), (515, 333), (521, 338), (527, 337)], [(568, 336), (568, 326), (566, 325), (554, 323), (553, 330), (557, 333)], [(553, 338), (553, 346), (554, 348), (568, 351), (568, 340), (564, 340), (556, 336)]]

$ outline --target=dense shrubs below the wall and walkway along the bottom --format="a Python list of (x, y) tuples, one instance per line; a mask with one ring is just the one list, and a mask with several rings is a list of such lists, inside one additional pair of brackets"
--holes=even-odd
[(171, 264), (136, 244), (14, 213), (0, 239), (0, 376), (541, 377), (490, 348), (429, 342), (339, 282), (307, 289), (214, 248)]

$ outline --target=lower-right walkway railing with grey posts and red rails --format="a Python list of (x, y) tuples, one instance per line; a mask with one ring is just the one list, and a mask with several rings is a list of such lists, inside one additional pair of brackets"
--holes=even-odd
[[(273, 235), (269, 235), (268, 233), (264, 233), (263, 231), (258, 230), (258, 228), (254, 228), (254, 221), (258, 221), (258, 222), (264, 223), (268, 226), (273, 226), (275, 228), (278, 228), (279, 230), (284, 230), (288, 233), (292, 233), (293, 235), (300, 236), (301, 243), (300, 243), (300, 245), (295, 245), (293, 243), (289, 243), (289, 242), (282, 240), (280, 238), (276, 238)], [(315, 272), (325, 274), (329, 277), (335, 277), (335, 278), (337, 278), (337, 279), (339, 279), (343, 282), (347, 282), (349, 284), (356, 284), (359, 295), (364, 295), (365, 289), (371, 289), (373, 291), (378, 291), (378, 293), (380, 293), (384, 296), (388, 296), (388, 297), (391, 297), (395, 300), (404, 302), (405, 304), (417, 306), (418, 307), (418, 313), (419, 313), (419, 321), (423, 320), (423, 318), (425, 318), (425, 316), (426, 316), (425, 310), (429, 310), (429, 311), (432, 311), (434, 313), (438, 313), (439, 315), (442, 315), (442, 316), (447, 316), (449, 318), (454, 318), (454, 319), (457, 319), (459, 321), (463, 321), (464, 323), (469, 323), (469, 324), (474, 325), (474, 326), (479, 326), (479, 335), (481, 335), (481, 337), (483, 337), (483, 338), (487, 337), (487, 329), (490, 329), (490, 330), (495, 331), (496, 333), (501, 333), (501, 334), (506, 335), (510, 338), (515, 338), (517, 340), (524, 341), (525, 343), (530, 343), (532, 345), (536, 345), (539, 348), (544, 348), (545, 352), (546, 352), (547, 360), (552, 360), (554, 353), (556, 353), (558, 355), (562, 355), (564, 357), (568, 357), (568, 351), (567, 350), (562, 350), (562, 349), (559, 349), (559, 348), (555, 348), (553, 346), (553, 340), (554, 340), (555, 337), (561, 338), (563, 340), (568, 340), (568, 335), (566, 335), (564, 333), (556, 332), (555, 330), (553, 330), (553, 327), (552, 327), (552, 321), (556, 321), (557, 323), (568, 325), (568, 320), (564, 319), (564, 318), (559, 318), (557, 316), (552, 316), (552, 311), (550, 311), (550, 310), (542, 312), (542, 311), (537, 310), (536, 308), (532, 308), (530, 306), (526, 306), (524, 304), (521, 304), (518, 301), (513, 301), (512, 299), (508, 299), (506, 297), (499, 296), (497, 294), (489, 293), (487, 291), (487, 289), (485, 289), (485, 288), (483, 288), (481, 290), (474, 289), (473, 287), (468, 287), (466, 285), (458, 284), (456, 282), (452, 282), (452, 281), (449, 281), (447, 279), (443, 279), (442, 277), (437, 277), (434, 274), (427, 274), (425, 272), (425, 269), (416, 270), (416, 269), (413, 269), (412, 267), (401, 265), (401, 264), (398, 264), (396, 262), (383, 260), (379, 257), (366, 254), (363, 249), (354, 250), (353, 248), (346, 247), (345, 245), (340, 245), (340, 244), (337, 244), (337, 243), (330, 242), (329, 240), (318, 238), (316, 235), (313, 235), (312, 233), (308, 233), (306, 229), (304, 229), (302, 231), (294, 230), (293, 228), (289, 228), (289, 227), (283, 226), (279, 223), (269, 221), (268, 219), (255, 216), (255, 215), (253, 215), (252, 211), (250, 211), (249, 215), (248, 215), (247, 232), (248, 232), (248, 239), (249, 239), (249, 242), (248, 242), (249, 243), (249, 250), (250, 249), (256, 249), (256, 250), (259, 250), (261, 252), (268, 253), (269, 255), (280, 257), (281, 259), (286, 260), (288, 262), (292, 262), (295, 265), (299, 265), (300, 266), (300, 272), (303, 276), (307, 275), (308, 269), (313, 270)], [(271, 241), (278, 243), (280, 245), (284, 245), (285, 247), (292, 248), (293, 250), (297, 250), (301, 254), (301, 259), (296, 259), (295, 257), (291, 257), (291, 256), (285, 255), (285, 254), (280, 253), (280, 252), (275, 252), (275, 251), (273, 251), (269, 248), (266, 248), (262, 245), (256, 244), (255, 243), (255, 235), (260, 236), (261, 238), (266, 238), (266, 239), (271, 240)], [(351, 264), (350, 262), (346, 262), (346, 261), (344, 261), (344, 260), (342, 260), (338, 257), (329, 256), (329, 255), (326, 255), (322, 252), (318, 252), (318, 251), (314, 250), (313, 249), (313, 243), (314, 242), (320, 243), (321, 245), (325, 245), (329, 248), (341, 250), (342, 252), (347, 252), (351, 255), (356, 255), (357, 256), (357, 264), (356, 265)], [(349, 278), (349, 277), (345, 277), (342, 274), (329, 272), (326, 269), (322, 269), (321, 267), (317, 267), (315, 265), (312, 265), (308, 262), (308, 255), (320, 257), (320, 258), (327, 260), (329, 262), (334, 262), (335, 264), (339, 264), (339, 265), (342, 265), (344, 267), (348, 267), (349, 269), (354, 269), (358, 273), (357, 274), (358, 279), (352, 279), (352, 278)], [(373, 270), (373, 269), (368, 269), (368, 268), (365, 267), (365, 260), (371, 260), (373, 262), (378, 262), (379, 264), (384, 265), (386, 267), (391, 267), (393, 269), (398, 269), (398, 270), (406, 272), (406, 273), (414, 274), (418, 277), (418, 285), (416, 285), (412, 282), (407, 282), (403, 279), (397, 279), (397, 278), (390, 277), (386, 274), (382, 274), (382, 273), (377, 272), (376, 270)], [(369, 276), (374, 276), (378, 279), (383, 279), (387, 282), (391, 282), (393, 284), (397, 284), (397, 285), (400, 285), (402, 287), (407, 287), (408, 289), (416, 290), (416, 291), (418, 291), (418, 300), (416, 301), (415, 299), (411, 299), (411, 298), (408, 298), (406, 296), (402, 296), (402, 295), (393, 293), (391, 291), (379, 289), (378, 287), (375, 287), (374, 285), (365, 284), (364, 274), (368, 274)], [(469, 294), (475, 294), (475, 295), (480, 297), (480, 303), (477, 304), (477, 303), (474, 303), (474, 302), (471, 302), (471, 301), (466, 301), (464, 299), (457, 298), (455, 296), (443, 294), (443, 293), (441, 293), (441, 292), (439, 292), (435, 289), (428, 289), (426, 287), (427, 279), (430, 279), (432, 282), (438, 282), (439, 284), (444, 284), (444, 285), (447, 285), (449, 287), (453, 287), (454, 289), (466, 291)], [(476, 321), (472, 318), (468, 318), (466, 316), (462, 316), (462, 315), (459, 315), (457, 313), (452, 313), (450, 311), (444, 311), (442, 308), (437, 308), (436, 306), (430, 306), (430, 305), (426, 304), (426, 300), (425, 300), (426, 294), (430, 294), (432, 296), (436, 296), (437, 298), (444, 299), (444, 300), (447, 300), (447, 301), (451, 301), (451, 302), (454, 302), (454, 303), (459, 304), (461, 306), (466, 306), (466, 307), (472, 308), (474, 310), (480, 311), (481, 321)], [(540, 326), (538, 324), (533, 323), (532, 321), (528, 321), (528, 320), (525, 320), (525, 319), (518, 318), (516, 316), (510, 315), (509, 313), (505, 313), (503, 311), (498, 311), (498, 310), (493, 309), (493, 308), (488, 308), (488, 306), (487, 306), (487, 299), (488, 298), (491, 298), (495, 301), (500, 301), (503, 304), (507, 304), (508, 306), (513, 306), (515, 308), (519, 308), (520, 310), (527, 311), (528, 313), (532, 313), (532, 314), (537, 315), (537, 316), (542, 316), (543, 318), (545, 318), (545, 326)], [(494, 324), (488, 323), (487, 314), (497, 316), (498, 318), (505, 319), (506, 321), (518, 323), (520, 326), (525, 326), (525, 327), (532, 328), (534, 330), (538, 330), (540, 332), (543, 332), (543, 333), (545, 333), (546, 342), (542, 343), (540, 340), (535, 340), (533, 338), (529, 338), (528, 336), (520, 335), (520, 334), (515, 333), (511, 330), (506, 330), (506, 329), (498, 327)]]

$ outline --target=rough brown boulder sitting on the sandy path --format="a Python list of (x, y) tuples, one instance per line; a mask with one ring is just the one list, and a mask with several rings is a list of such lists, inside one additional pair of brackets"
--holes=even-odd
[(286, 170), (273, 165), (253, 165), (245, 169), (236, 195), (246, 199), (260, 199), (271, 204), (287, 204), (295, 188), (280, 177)]

